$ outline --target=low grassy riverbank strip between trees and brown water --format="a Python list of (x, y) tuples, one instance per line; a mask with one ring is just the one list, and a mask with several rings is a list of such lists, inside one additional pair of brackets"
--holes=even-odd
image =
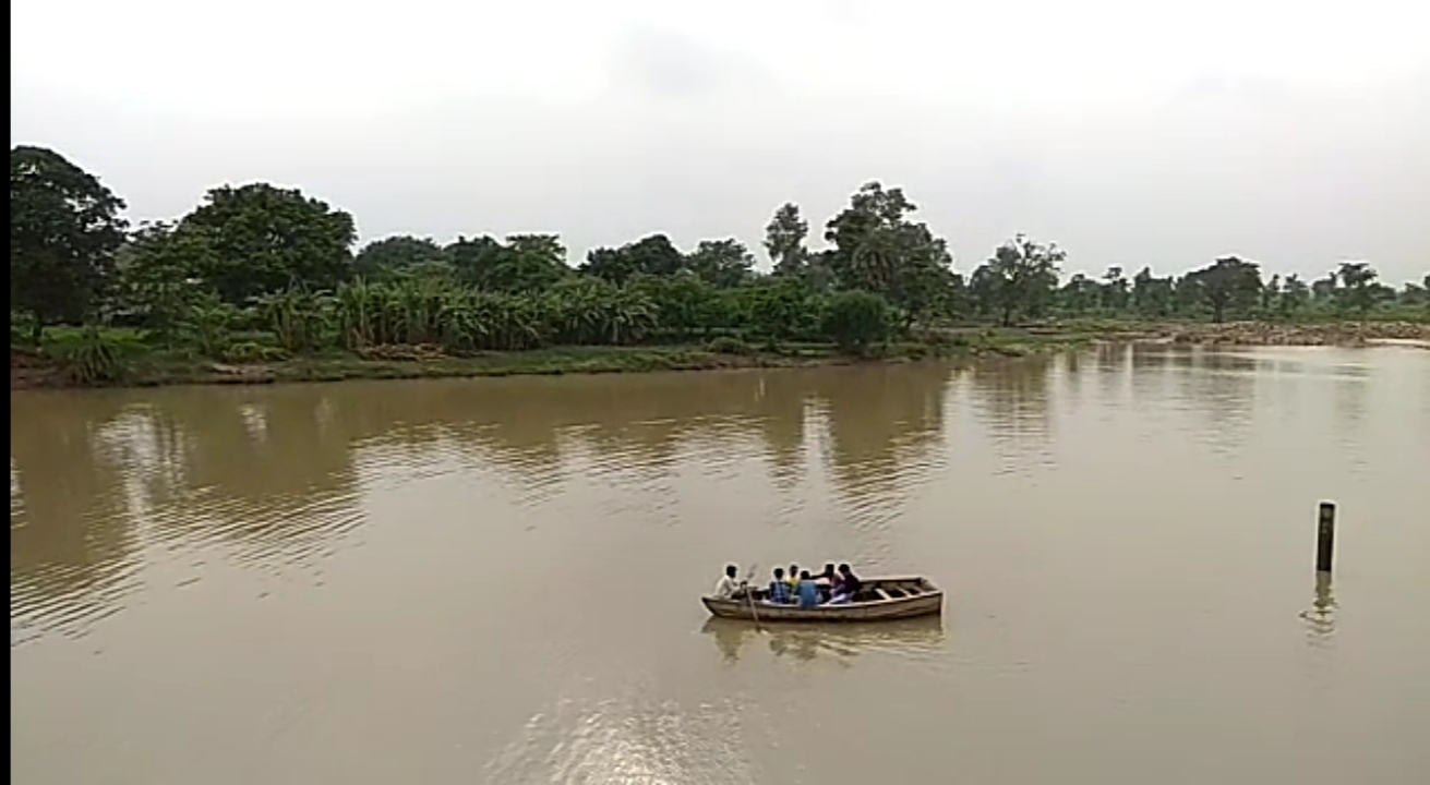
[[(212, 360), (164, 352), (137, 336), (106, 336), (104, 363), (80, 359), (77, 332), (56, 330), (40, 350), (10, 347), (10, 389), (167, 385), (269, 385), (349, 379), (435, 379), (563, 373), (644, 373), (897, 363), (927, 359), (1022, 357), (1094, 343), (1171, 343), (1200, 346), (1369, 346), (1409, 343), (1430, 347), (1430, 325), (1411, 322), (1326, 325), (1171, 325), (1068, 322), (1027, 329), (961, 327), (918, 342), (879, 346), (864, 356), (834, 345), (752, 346), (716, 339), (702, 346), (583, 346), (533, 352), (449, 356), (432, 346), (385, 346), (362, 355), (327, 352), (287, 356), (273, 346), (249, 345), (240, 356)], [(104, 367), (94, 367), (103, 365)]]

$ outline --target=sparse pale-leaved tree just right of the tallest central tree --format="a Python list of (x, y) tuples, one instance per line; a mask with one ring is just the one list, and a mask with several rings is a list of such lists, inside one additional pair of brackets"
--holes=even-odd
[(1002, 326), (1012, 326), (1018, 315), (1042, 312), (1058, 285), (1058, 266), (1065, 257), (1055, 243), (1041, 245), (1017, 234), (974, 270), (971, 293), (985, 313), (997, 313)]

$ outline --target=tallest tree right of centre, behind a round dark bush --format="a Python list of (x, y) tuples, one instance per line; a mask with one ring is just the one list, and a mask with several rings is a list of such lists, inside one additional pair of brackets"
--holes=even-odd
[(865, 183), (824, 233), (834, 243), (827, 257), (839, 286), (884, 295), (909, 319), (935, 309), (952, 266), (947, 242), (908, 219), (917, 209), (902, 189)]

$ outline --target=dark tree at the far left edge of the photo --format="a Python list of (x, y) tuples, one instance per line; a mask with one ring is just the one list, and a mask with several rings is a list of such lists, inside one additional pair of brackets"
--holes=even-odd
[(44, 147), (10, 149), (10, 307), (47, 325), (89, 316), (129, 227), (124, 200)]

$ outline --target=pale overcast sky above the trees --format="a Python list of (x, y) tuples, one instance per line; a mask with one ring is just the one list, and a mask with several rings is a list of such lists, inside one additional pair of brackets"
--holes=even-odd
[[(177, 217), (300, 186), (393, 233), (758, 249), (902, 186), (971, 270), (1430, 272), (1430, 3), (17, 0), (11, 143)], [(819, 245), (822, 240), (817, 242)], [(764, 263), (764, 253), (759, 253)]]

